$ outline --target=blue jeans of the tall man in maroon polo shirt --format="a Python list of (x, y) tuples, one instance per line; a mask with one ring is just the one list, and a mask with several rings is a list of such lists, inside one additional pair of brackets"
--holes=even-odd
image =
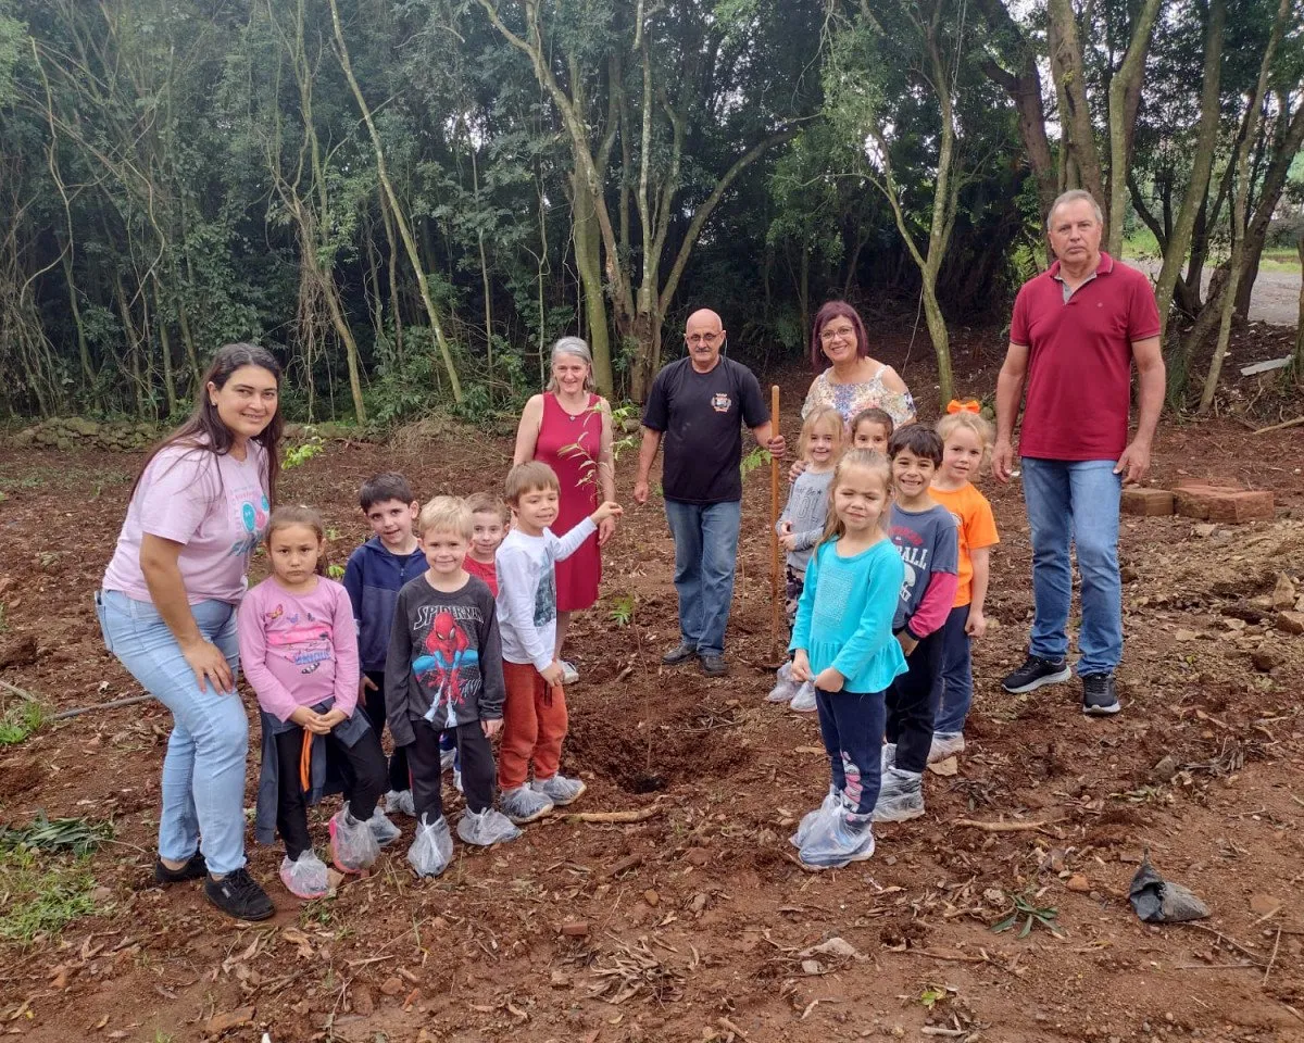
[(1068, 611), (1073, 598), (1069, 541), (1082, 576), (1082, 652), (1078, 675), (1110, 674), (1123, 658), (1123, 583), (1119, 578), (1119, 499), (1123, 477), (1116, 460), (1022, 458), (1024, 499), (1033, 531), (1035, 615), (1030, 652), (1060, 660), (1068, 652)]

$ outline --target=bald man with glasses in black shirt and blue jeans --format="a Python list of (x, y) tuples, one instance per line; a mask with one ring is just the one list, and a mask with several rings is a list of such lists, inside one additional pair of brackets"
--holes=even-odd
[(689, 357), (657, 373), (643, 411), (643, 448), (634, 499), (647, 503), (648, 472), (665, 439), (661, 484), (674, 536), (674, 587), (679, 592), (679, 644), (665, 664), (696, 656), (703, 673), (721, 677), (725, 627), (733, 601), (738, 529), (742, 520), (742, 426), (776, 456), (784, 437), (769, 425), (769, 408), (751, 370), (720, 349), (720, 316), (689, 316)]

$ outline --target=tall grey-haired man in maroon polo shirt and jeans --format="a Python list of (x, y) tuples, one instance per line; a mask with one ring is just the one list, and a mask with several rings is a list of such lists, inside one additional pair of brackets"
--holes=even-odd
[[(1068, 613), (1073, 596), (1069, 541), (1082, 576), (1078, 632), (1082, 712), (1118, 713), (1114, 670), (1123, 657), (1119, 497), (1150, 469), (1163, 405), (1159, 310), (1150, 280), (1101, 252), (1101, 207), (1065, 192), (1046, 222), (1059, 258), (1015, 300), (1009, 351), (996, 381), (992, 475), (1009, 481), (1015, 421), (1024, 389), (1018, 454), (1033, 536), (1035, 615), (1028, 660), (1001, 683), (1030, 692), (1068, 681)], [(1137, 430), (1128, 442), (1132, 365)]]

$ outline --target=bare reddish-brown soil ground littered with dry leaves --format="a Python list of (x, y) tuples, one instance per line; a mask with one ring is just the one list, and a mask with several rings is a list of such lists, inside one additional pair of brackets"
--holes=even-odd
[[(784, 381), (789, 433), (807, 379)], [(197, 885), (151, 884), (166, 712), (46, 726), (0, 748), (0, 820), (111, 817), (117, 834), (91, 863), (96, 911), (4, 952), (0, 1031), (59, 1043), (257, 1040), (265, 1029), (278, 1043), (1304, 1040), (1304, 638), (1254, 601), (1282, 574), (1304, 592), (1300, 441), (1223, 420), (1164, 426), (1161, 484), (1273, 489), (1287, 516), (1211, 531), (1125, 519), (1125, 709), (1110, 721), (1084, 718), (1072, 684), (1000, 690), (1026, 640), (1030, 563), (1017, 485), (987, 482), (1003, 538), (998, 626), (977, 649), (969, 750), (957, 774), (927, 777), (923, 819), (882, 828), (875, 858), (844, 871), (803, 872), (786, 844), (828, 768), (816, 722), (762, 701), (776, 664), (765, 471), (747, 480), (729, 678), (659, 666), (677, 627), (656, 505), (630, 510), (604, 600), (575, 626), (583, 681), (569, 694), (566, 768), (589, 782), (576, 810), (652, 811), (644, 821), (557, 817), (490, 851), (459, 842), (449, 872), (419, 883), (399, 819), (407, 837), (373, 875), (310, 903), (276, 880), (278, 849), (250, 846), (278, 915), (239, 924)], [(506, 438), (404, 446), (333, 445), (287, 476), (284, 495), (326, 512), (343, 557), (366, 535), (353, 495), (370, 473), (399, 467), (428, 497), (488, 486), (510, 459)], [(35, 641), (0, 679), (53, 708), (140, 691), (91, 606), (137, 463), (10, 450), (0, 462), (0, 649)], [(622, 493), (631, 468), (632, 454)], [(629, 597), (632, 621), (617, 626), (609, 613)], [(1211, 919), (1133, 915), (1128, 881), (1146, 849)], [(1009, 896), (1054, 907), (1061, 936), (995, 933)], [(803, 956), (833, 936), (855, 956)]]

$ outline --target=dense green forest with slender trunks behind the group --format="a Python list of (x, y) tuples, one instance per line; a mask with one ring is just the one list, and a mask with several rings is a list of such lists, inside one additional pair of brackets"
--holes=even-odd
[(833, 296), (914, 314), (944, 402), (948, 330), (1003, 338), (1076, 186), (1208, 409), (1257, 271), (1304, 261), (1304, 9), (0, 0), (0, 142), (10, 419), (166, 421), (230, 340), (299, 420), (511, 409), (567, 332), (638, 400), (691, 308), (768, 366)]

